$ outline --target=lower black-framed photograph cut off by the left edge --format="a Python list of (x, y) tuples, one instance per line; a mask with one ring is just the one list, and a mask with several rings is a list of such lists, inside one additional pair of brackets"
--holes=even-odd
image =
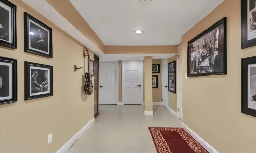
[(0, 104), (17, 101), (17, 60), (0, 57)]

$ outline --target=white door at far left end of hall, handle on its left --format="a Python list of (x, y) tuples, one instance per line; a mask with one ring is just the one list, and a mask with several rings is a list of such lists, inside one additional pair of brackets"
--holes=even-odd
[(116, 63), (99, 63), (99, 104), (117, 103)]

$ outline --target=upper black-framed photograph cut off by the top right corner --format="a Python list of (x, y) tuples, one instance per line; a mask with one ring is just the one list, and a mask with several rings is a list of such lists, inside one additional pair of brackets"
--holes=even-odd
[(241, 0), (241, 49), (256, 45), (256, 0)]

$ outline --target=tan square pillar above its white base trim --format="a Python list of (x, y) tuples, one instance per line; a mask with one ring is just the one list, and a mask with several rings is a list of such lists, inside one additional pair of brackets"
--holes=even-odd
[(153, 96), (152, 96), (152, 56), (144, 58), (144, 91), (145, 91), (145, 111), (153, 111)]

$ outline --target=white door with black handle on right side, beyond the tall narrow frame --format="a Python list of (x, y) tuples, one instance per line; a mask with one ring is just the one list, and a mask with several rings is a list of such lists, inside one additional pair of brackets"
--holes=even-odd
[(162, 59), (162, 104), (168, 109), (168, 62)]

